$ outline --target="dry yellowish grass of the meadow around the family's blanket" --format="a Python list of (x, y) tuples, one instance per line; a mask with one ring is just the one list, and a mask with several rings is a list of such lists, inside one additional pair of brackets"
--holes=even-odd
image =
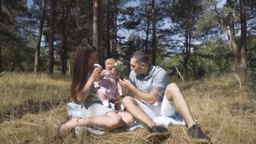
[[(234, 75), (211, 76), (202, 80), (179, 83), (197, 122), (216, 144), (256, 143), (256, 86), (240, 83)], [(59, 140), (59, 125), (68, 119), (69, 77), (45, 74), (0, 74), (0, 142), (142, 144), (145, 129), (133, 132), (107, 132), (102, 136), (72, 135)], [(187, 128), (169, 126), (172, 136), (163, 143), (195, 141)]]

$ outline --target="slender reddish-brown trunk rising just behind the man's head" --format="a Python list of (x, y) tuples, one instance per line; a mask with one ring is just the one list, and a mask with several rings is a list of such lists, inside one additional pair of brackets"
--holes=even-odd
[(155, 35), (155, 0), (152, 0), (152, 64), (156, 59), (156, 35)]

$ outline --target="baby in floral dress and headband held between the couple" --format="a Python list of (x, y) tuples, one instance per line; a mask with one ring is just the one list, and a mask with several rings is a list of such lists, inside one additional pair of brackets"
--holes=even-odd
[[(120, 62), (109, 58), (105, 61), (106, 69), (102, 70), (101, 78), (94, 81), (94, 86), (98, 90), (99, 99), (105, 107), (109, 107), (109, 101), (115, 104), (116, 110), (121, 110), (118, 96), (123, 95), (122, 88), (117, 82), (117, 67)], [(99, 65), (94, 65), (99, 66)]]

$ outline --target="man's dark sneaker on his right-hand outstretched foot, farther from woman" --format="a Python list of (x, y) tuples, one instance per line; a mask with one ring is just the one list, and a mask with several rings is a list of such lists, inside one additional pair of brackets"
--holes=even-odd
[(188, 129), (188, 135), (197, 142), (208, 143), (211, 139), (203, 133), (201, 125), (194, 124)]

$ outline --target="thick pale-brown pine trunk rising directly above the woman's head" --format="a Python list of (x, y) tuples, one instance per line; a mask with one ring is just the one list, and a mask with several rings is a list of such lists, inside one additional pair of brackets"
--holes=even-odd
[(93, 0), (93, 46), (98, 51), (98, 62), (101, 62), (100, 54), (100, 27), (99, 27), (99, 3), (100, 0)]

